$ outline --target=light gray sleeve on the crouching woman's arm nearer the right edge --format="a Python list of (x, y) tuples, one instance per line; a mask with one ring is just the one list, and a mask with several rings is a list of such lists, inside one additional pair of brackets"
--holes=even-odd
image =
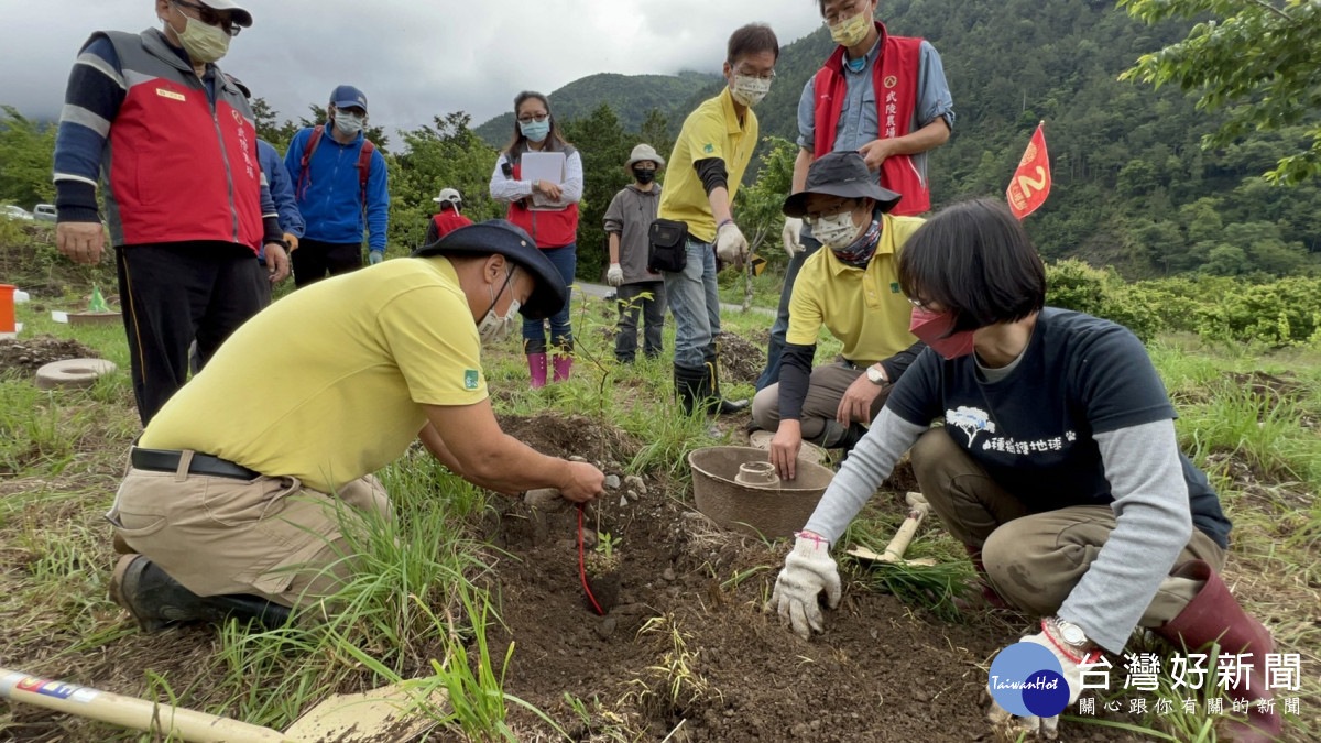
[(1120, 653), (1193, 535), (1173, 420), (1095, 435), (1115, 497), (1115, 530), (1074, 586), (1059, 617)]

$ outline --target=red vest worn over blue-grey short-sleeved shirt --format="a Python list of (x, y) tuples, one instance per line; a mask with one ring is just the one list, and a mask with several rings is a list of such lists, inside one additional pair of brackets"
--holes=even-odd
[[(876, 28), (881, 32), (881, 50), (872, 65), (872, 85), (876, 87), (880, 139), (893, 139), (909, 134), (909, 123), (913, 120), (922, 40), (890, 36), (881, 22), (877, 22)], [(844, 48), (840, 46), (812, 79), (812, 94), (816, 100), (812, 111), (816, 127), (812, 149), (816, 157), (835, 148), (835, 132), (839, 115), (844, 110), (845, 90)], [(881, 185), (904, 196), (890, 214), (922, 214), (931, 208), (927, 182), (909, 155), (892, 155), (885, 159), (881, 164)]]

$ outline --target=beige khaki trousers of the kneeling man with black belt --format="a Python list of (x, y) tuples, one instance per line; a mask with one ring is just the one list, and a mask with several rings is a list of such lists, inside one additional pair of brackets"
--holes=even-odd
[(129, 469), (106, 518), (116, 545), (199, 596), (255, 594), (288, 607), (312, 604), (353, 572), (342, 525), (392, 518), (371, 475), (330, 496), (296, 477), (193, 475), (192, 453), (184, 452), (178, 472)]

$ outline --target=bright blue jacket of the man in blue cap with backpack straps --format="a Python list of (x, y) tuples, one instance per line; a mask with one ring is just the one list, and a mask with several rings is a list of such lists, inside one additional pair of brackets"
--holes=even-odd
[[(284, 167), (293, 182), (299, 212), (306, 222), (304, 235), (321, 242), (350, 243), (362, 242), (363, 208), (362, 189), (358, 185), (358, 155), (366, 137), (359, 132), (349, 144), (339, 144), (330, 136), (326, 126), (317, 151), (312, 153), (308, 169), (308, 188), (297, 193), (303, 177), (303, 151), (312, 137), (312, 128), (293, 135), (289, 151), (284, 153)], [(371, 153), (371, 171), (367, 175), (366, 227), (370, 233), (371, 250), (386, 250), (386, 227), (390, 221), (390, 190), (386, 182), (386, 159), (380, 148)]]

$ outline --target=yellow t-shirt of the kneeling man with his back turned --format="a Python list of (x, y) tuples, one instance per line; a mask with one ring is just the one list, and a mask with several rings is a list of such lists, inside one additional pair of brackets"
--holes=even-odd
[(481, 340), (446, 258), (386, 260), (244, 323), (139, 446), (194, 450), (330, 492), (398, 459), (423, 403), (486, 399)]

